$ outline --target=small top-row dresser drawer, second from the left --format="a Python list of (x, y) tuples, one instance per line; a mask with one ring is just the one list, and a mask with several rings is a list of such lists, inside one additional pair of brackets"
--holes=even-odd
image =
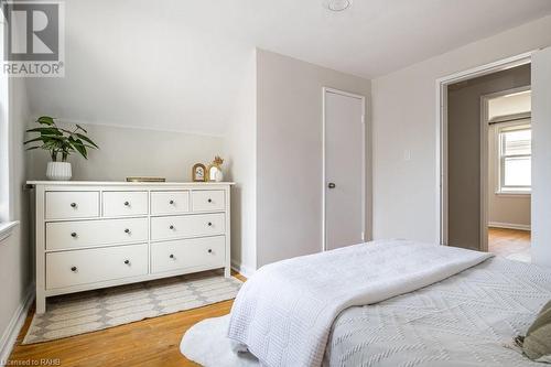
[(123, 217), (148, 214), (147, 191), (104, 192), (104, 216)]

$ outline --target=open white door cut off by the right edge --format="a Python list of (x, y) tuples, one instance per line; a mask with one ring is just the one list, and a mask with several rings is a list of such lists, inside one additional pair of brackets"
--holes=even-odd
[(551, 47), (532, 55), (532, 262), (551, 267)]

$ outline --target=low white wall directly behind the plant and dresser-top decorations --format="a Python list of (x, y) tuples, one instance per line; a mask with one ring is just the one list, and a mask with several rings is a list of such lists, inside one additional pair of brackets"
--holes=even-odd
[[(69, 156), (73, 180), (125, 181), (127, 176), (145, 175), (191, 181), (193, 164), (209, 163), (224, 151), (222, 137), (102, 125), (82, 126), (99, 150), (90, 150), (88, 160), (76, 154)], [(45, 179), (48, 161), (46, 151), (29, 152), (29, 179)]]

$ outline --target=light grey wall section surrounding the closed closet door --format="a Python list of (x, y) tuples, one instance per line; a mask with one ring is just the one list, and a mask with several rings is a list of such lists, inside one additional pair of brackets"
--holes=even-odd
[[(370, 97), (367, 79), (257, 51), (259, 267), (322, 249), (324, 86), (366, 96), (366, 100)], [(366, 172), (370, 172), (370, 152), (366, 162)], [(368, 208), (370, 188), (366, 187)], [(367, 222), (366, 228), (370, 228), (370, 211)]]

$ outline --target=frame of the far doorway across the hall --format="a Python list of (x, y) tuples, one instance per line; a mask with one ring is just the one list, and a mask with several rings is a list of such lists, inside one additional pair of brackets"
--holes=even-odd
[[(488, 171), (489, 171), (489, 100), (515, 93), (531, 90), (532, 86), (511, 88), (507, 90), (491, 93), (480, 96), (480, 251), (488, 251), (488, 198), (491, 195), (489, 190)], [(516, 116), (520, 119), (530, 118), (529, 115)]]

